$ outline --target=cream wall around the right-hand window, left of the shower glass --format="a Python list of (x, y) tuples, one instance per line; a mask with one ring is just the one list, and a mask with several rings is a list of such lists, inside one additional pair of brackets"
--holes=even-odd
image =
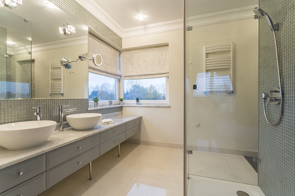
[(171, 107), (123, 107), (123, 114), (142, 115), (142, 131), (131, 139), (142, 140), (145, 144), (182, 148), (183, 31), (124, 38), (123, 49), (160, 43), (169, 43), (169, 105)]

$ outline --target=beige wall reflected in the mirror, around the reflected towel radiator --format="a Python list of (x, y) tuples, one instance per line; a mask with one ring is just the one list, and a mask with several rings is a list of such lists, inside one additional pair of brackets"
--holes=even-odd
[(63, 56), (72, 61), (80, 53), (88, 53), (87, 44), (70, 46), (32, 53), (35, 59), (35, 97), (36, 98), (88, 98), (88, 61), (73, 62), (71, 69), (64, 69), (64, 96), (49, 96), (49, 64), (59, 63)]

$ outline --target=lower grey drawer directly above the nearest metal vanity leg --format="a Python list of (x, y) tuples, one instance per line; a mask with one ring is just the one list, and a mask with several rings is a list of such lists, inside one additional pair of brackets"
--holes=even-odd
[(49, 189), (94, 159), (98, 158), (98, 150), (99, 146), (91, 148), (90, 150), (87, 150), (86, 152), (46, 171), (46, 189)]

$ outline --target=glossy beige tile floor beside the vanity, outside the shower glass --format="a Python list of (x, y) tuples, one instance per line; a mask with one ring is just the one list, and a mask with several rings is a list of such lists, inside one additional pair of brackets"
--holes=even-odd
[(122, 143), (40, 196), (180, 196), (183, 150)]

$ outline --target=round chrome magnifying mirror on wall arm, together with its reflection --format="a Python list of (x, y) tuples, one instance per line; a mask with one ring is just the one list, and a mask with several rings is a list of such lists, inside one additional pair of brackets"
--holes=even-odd
[(102, 62), (103, 62), (103, 58), (101, 53), (96, 53), (93, 55), (92, 58), (87, 58), (86, 54), (81, 53), (78, 56), (79, 58), (76, 61), (71, 61), (70, 58), (68, 58), (67, 56), (64, 56), (63, 58), (60, 59), (60, 64), (63, 66), (63, 68), (65, 69), (71, 69), (73, 66), (72, 62), (77, 62), (78, 60), (80, 61), (86, 61), (86, 59), (88, 59), (89, 61), (93, 61), (93, 64), (95, 66), (101, 66)]

